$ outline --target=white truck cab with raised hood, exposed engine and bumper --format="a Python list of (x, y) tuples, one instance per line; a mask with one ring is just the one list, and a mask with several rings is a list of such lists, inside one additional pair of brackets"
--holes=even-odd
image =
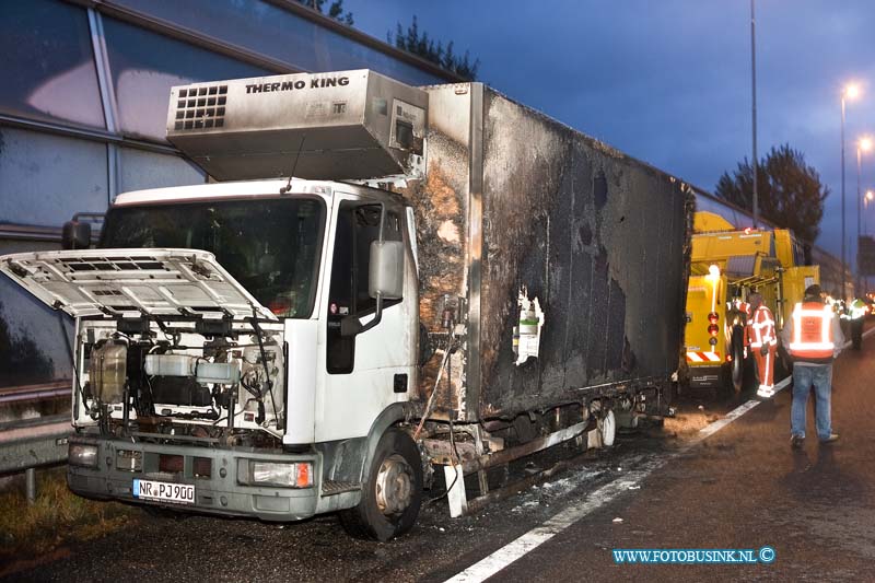
[[(407, 209), (330, 182), (142, 190), (97, 248), (4, 257), (77, 318), (71, 489), (266, 520), (358, 504), (363, 464), (343, 455), (363, 458), (417, 382)], [(409, 499), (421, 468), (405, 469)]]

